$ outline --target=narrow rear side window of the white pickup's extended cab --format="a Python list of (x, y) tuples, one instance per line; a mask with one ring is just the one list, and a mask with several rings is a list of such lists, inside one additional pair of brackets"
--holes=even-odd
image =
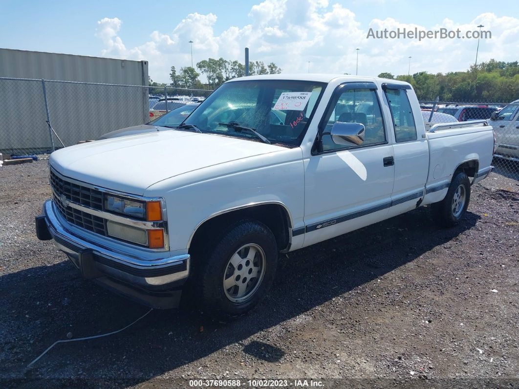
[(416, 136), (415, 118), (411, 103), (405, 89), (386, 89), (386, 97), (393, 118), (394, 137), (397, 142), (407, 142), (418, 139)]

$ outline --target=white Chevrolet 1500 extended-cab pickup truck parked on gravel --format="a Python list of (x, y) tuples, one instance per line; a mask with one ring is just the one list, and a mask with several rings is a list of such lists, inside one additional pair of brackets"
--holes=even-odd
[(136, 301), (170, 308), (188, 289), (239, 315), (267, 293), (280, 252), (426, 205), (456, 224), (493, 147), (484, 120), (426, 132), (404, 82), (243, 77), (176, 129), (52, 153), (36, 232)]

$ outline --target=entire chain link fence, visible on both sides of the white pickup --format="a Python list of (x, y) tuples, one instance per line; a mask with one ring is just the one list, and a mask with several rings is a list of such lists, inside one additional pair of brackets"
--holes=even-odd
[[(45, 158), (60, 147), (148, 123), (211, 92), (0, 77), (0, 153)], [(495, 171), (519, 180), (519, 100), (421, 101), (420, 106), (428, 125), (487, 120), (496, 136)]]

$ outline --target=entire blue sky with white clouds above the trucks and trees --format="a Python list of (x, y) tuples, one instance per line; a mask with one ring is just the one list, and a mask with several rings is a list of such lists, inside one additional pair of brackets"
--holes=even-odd
[[(0, 47), (147, 60), (149, 75), (167, 82), (169, 69), (223, 57), (275, 62), (283, 73), (463, 71), (477, 39), (373, 39), (370, 29), (491, 32), (478, 62), (519, 60), (519, 2), (437, 0), (0, 0)], [(310, 64), (308, 63), (310, 61)], [(204, 81), (203, 77), (202, 81)]]

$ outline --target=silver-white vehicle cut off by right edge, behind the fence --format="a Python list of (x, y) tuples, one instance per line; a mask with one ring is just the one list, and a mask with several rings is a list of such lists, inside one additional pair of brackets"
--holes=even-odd
[(496, 134), (494, 156), (519, 162), (519, 100), (492, 114), (488, 123)]

